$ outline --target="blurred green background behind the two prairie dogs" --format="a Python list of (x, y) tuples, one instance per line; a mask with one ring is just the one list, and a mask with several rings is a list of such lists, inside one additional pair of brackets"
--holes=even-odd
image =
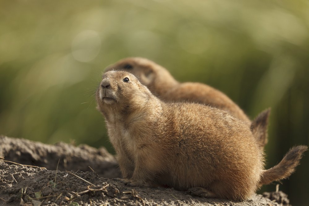
[[(271, 107), (267, 168), (309, 141), (309, 1), (0, 1), (0, 133), (114, 152), (93, 93), (103, 69), (141, 56)], [(308, 205), (309, 154), (280, 189)], [(274, 191), (275, 184), (263, 187)]]

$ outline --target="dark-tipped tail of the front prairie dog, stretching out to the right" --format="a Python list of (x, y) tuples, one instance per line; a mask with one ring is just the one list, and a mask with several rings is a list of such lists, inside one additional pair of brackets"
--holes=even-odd
[(285, 154), (281, 162), (268, 170), (263, 170), (260, 186), (289, 177), (295, 171), (295, 167), (299, 165), (299, 161), (307, 149), (308, 147), (305, 145), (293, 147)]

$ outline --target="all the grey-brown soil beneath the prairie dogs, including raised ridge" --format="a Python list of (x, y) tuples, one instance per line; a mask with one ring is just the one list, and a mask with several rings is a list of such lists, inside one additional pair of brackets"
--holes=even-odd
[(280, 191), (263, 194), (273, 200), (255, 195), (251, 200), (234, 202), (205, 199), (173, 188), (128, 187), (119, 179), (113, 179), (120, 177), (115, 158), (105, 148), (87, 145), (47, 145), (0, 136), (0, 156), (5, 158), (0, 161), (0, 205), (289, 204), (286, 195)]

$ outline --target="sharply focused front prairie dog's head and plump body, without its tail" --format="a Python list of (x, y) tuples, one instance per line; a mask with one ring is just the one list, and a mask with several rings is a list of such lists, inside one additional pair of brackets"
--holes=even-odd
[[(123, 178), (132, 186), (163, 184), (244, 200), (268, 175), (250, 128), (228, 112), (163, 102), (125, 71), (106, 72), (96, 99)], [(276, 175), (271, 178), (282, 176)]]

